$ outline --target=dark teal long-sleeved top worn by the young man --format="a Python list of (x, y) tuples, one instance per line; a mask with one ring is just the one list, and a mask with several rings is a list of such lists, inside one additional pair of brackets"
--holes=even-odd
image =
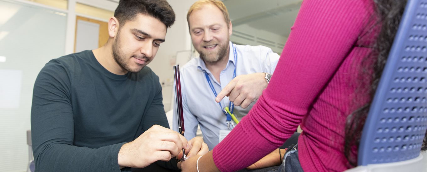
[[(155, 124), (169, 128), (159, 78), (149, 67), (115, 75), (92, 51), (53, 59), (39, 73), (33, 91), (36, 171), (120, 171), (121, 146)], [(174, 161), (157, 163), (177, 169)]]

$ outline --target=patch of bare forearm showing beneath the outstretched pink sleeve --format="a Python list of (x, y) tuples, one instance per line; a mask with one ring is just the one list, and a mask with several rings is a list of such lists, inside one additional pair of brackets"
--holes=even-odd
[(280, 161), (280, 157), (283, 157), (283, 155), (286, 152), (285, 149), (280, 149), (280, 150), (282, 153), (281, 155), (279, 155), (279, 149), (275, 149), (273, 152), (271, 152), (268, 155), (266, 155), (265, 157), (261, 158), (260, 160), (258, 160), (254, 164), (246, 167), (246, 169), (261, 169), (261, 168), (266, 168), (266, 167), (270, 167), (270, 166), (280, 165), (280, 163), (282, 163)]

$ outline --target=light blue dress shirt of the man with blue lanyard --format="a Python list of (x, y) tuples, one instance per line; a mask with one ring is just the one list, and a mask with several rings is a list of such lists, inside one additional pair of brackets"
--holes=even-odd
[[(237, 64), (234, 61), (233, 45), (237, 52)], [(216, 103), (215, 95), (202, 69), (208, 73), (216, 93), (219, 93), (232, 80), (236, 66), (236, 76), (258, 72), (272, 74), (279, 57), (277, 53), (272, 52), (270, 48), (265, 46), (243, 46), (230, 42), (228, 63), (219, 75), (221, 84), (213, 77), (200, 57), (191, 59), (181, 67), (180, 79), (185, 138), (190, 140), (196, 137), (197, 126), (200, 124), (203, 140), (208, 144), (209, 150), (212, 150), (219, 143), (219, 130), (228, 129), (225, 123), (226, 116), (219, 104)], [(229, 103), (228, 97), (221, 101), (222, 107), (228, 106)], [(236, 115), (237, 119), (241, 120), (243, 116), (247, 115), (254, 103), (251, 103), (246, 109), (234, 106), (234, 115)], [(175, 97), (173, 106), (173, 130), (178, 131)]]

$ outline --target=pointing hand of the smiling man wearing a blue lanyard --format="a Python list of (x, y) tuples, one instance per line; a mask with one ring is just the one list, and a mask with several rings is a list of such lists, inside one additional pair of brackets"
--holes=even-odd
[(267, 88), (264, 73), (239, 75), (219, 92), (215, 101), (220, 102), (225, 96), (236, 106), (247, 108), (249, 104), (257, 100), (263, 90)]

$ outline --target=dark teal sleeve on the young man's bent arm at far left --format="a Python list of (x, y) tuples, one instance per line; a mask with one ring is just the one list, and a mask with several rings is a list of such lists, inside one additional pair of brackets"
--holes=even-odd
[(36, 171), (120, 172), (117, 155), (124, 143), (98, 149), (73, 146), (74, 121), (69, 74), (64, 66), (51, 61), (35, 81), (31, 130)]

